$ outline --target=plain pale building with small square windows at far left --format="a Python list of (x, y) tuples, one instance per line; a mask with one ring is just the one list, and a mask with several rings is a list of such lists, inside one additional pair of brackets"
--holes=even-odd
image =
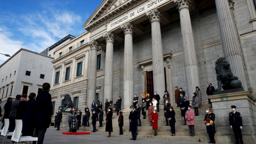
[(51, 83), (54, 59), (41, 53), (20, 49), (0, 66), (1, 107), (8, 97), (31, 92), (38, 95), (43, 83)]

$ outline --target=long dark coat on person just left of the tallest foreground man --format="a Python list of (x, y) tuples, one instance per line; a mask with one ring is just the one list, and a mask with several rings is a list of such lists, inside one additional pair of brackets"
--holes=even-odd
[(22, 121), (22, 136), (31, 136), (33, 137), (34, 134), (34, 125), (35, 125), (35, 113), (36, 113), (36, 100), (31, 99), (28, 100), (25, 114), (23, 116)]

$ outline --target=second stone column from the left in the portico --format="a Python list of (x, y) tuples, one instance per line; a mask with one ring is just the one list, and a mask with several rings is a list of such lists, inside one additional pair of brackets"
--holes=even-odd
[(109, 31), (103, 37), (107, 43), (103, 101), (105, 101), (105, 99), (110, 101), (110, 99), (113, 98), (113, 44), (115, 36)]

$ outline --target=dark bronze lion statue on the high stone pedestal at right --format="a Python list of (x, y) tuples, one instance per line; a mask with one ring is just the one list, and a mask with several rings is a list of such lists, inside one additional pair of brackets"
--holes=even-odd
[(223, 90), (239, 88), (243, 89), (242, 82), (238, 80), (237, 76), (233, 75), (230, 68), (230, 63), (226, 60), (226, 58), (219, 58), (215, 62), (215, 70), (218, 81), (218, 89), (216, 89), (217, 91), (221, 91), (221, 86)]

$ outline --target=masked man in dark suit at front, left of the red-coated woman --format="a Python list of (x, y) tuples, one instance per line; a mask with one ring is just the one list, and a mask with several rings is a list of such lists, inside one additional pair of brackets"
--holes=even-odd
[(130, 131), (132, 131), (132, 138), (130, 140), (136, 140), (138, 112), (135, 110), (133, 106), (130, 106), (130, 108), (131, 108), (131, 112), (129, 115), (129, 122), (130, 122)]

